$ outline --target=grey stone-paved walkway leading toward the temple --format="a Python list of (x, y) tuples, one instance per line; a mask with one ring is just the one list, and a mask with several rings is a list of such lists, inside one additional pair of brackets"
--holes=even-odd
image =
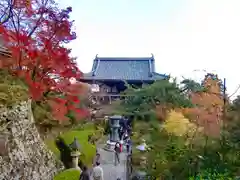
[(122, 152), (120, 154), (120, 164), (114, 165), (114, 152), (106, 151), (103, 149), (104, 145), (98, 146), (98, 151), (101, 155), (101, 167), (104, 172), (104, 180), (126, 180), (126, 160), (127, 153)]

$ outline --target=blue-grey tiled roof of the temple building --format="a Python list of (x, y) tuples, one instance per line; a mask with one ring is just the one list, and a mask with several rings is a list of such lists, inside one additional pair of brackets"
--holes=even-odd
[(94, 59), (92, 71), (84, 79), (95, 80), (157, 80), (167, 75), (155, 72), (154, 57), (120, 58), (98, 57)]

